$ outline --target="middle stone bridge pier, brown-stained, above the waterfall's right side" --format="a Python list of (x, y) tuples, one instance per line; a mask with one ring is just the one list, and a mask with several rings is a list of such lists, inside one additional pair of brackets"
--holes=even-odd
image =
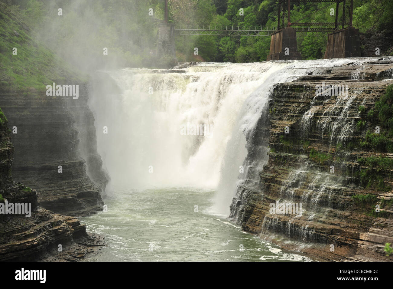
[(270, 54), (266, 60), (299, 60), (301, 55), (298, 52), (298, 42), (296, 41), (296, 29), (286, 27), (271, 34)]

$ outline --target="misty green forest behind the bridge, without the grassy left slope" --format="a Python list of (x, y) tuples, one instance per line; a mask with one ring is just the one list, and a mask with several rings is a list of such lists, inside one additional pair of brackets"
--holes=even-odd
[[(18, 9), (20, 17), (45, 43), (69, 63), (99, 66), (102, 48), (110, 49), (113, 63), (123, 66), (154, 67), (158, 25), (164, 19), (164, 0), (2, 0)], [(180, 26), (277, 27), (277, 0), (168, 0), (168, 21)], [(349, 11), (350, 1), (346, 1)], [(62, 7), (68, 20), (54, 18)], [(334, 22), (342, 17), (334, 2), (291, 1), (291, 22)], [(149, 15), (149, 9), (152, 14)], [(242, 9), (243, 13), (239, 13)], [(348, 15), (346, 15), (348, 17)], [(353, 25), (360, 32), (393, 29), (393, 0), (354, 0)], [(70, 20), (71, 19), (71, 20)], [(285, 17), (286, 25), (286, 17)], [(61, 37), (53, 38), (53, 33)], [(255, 62), (265, 61), (270, 37), (176, 35), (178, 61)], [(303, 59), (321, 59), (327, 36), (298, 36)], [(194, 55), (194, 48), (198, 55)], [(86, 61), (74, 57), (89, 51)], [(76, 52), (75, 52), (76, 51)], [(94, 60), (94, 61), (92, 61)]]

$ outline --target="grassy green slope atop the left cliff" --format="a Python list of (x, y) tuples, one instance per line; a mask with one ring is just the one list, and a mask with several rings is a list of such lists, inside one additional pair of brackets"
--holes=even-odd
[[(6, 6), (0, 1), (0, 88), (45, 90), (46, 85), (53, 81), (65, 80), (66, 72), (72, 75), (64, 61), (35, 42), (23, 25), (26, 24), (17, 7)], [(72, 80), (73, 77), (67, 79), (70, 78)]]

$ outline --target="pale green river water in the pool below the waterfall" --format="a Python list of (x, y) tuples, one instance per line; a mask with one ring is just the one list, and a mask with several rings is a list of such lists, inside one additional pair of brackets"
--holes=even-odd
[(110, 193), (108, 212), (81, 218), (107, 244), (84, 261), (312, 261), (214, 215), (213, 195), (190, 188)]

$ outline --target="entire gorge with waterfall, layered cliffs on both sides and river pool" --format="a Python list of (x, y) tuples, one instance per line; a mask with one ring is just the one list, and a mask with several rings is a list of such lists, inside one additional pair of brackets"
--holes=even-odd
[(392, 57), (1, 76), (0, 260), (392, 260)]

